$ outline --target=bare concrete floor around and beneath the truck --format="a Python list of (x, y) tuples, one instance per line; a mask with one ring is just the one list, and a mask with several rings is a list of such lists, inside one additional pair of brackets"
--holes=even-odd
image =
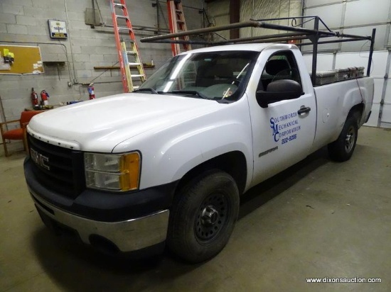
[(322, 149), (247, 192), (227, 247), (198, 265), (114, 260), (51, 235), (22, 162), (0, 157), (0, 291), (391, 291), (390, 130), (364, 127), (349, 162)]

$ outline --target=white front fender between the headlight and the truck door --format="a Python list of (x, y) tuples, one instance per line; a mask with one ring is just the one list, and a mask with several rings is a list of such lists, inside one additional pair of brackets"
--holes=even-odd
[[(213, 102), (213, 101), (211, 101)], [(126, 140), (113, 152), (141, 150), (140, 189), (178, 181), (194, 167), (227, 152), (246, 157), (247, 181), (252, 178), (252, 126), (247, 96), (169, 127)]]

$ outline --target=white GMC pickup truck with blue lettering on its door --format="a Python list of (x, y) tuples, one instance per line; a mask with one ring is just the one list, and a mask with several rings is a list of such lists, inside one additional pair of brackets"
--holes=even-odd
[(37, 115), (28, 189), (46, 225), (105, 252), (227, 244), (240, 195), (328, 145), (350, 159), (373, 79), (313, 86), (296, 45), (183, 52), (139, 89)]

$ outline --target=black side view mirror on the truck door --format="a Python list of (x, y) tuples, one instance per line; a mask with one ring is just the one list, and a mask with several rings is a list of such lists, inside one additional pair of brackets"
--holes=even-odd
[(255, 95), (261, 108), (267, 108), (269, 103), (284, 101), (286, 99), (297, 99), (304, 94), (301, 85), (290, 79), (282, 79), (271, 82), (266, 91), (257, 91)]

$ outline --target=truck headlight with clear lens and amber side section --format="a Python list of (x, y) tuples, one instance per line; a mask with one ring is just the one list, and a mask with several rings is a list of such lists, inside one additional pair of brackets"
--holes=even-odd
[(139, 188), (140, 155), (85, 153), (85, 183), (88, 188), (132, 191)]

